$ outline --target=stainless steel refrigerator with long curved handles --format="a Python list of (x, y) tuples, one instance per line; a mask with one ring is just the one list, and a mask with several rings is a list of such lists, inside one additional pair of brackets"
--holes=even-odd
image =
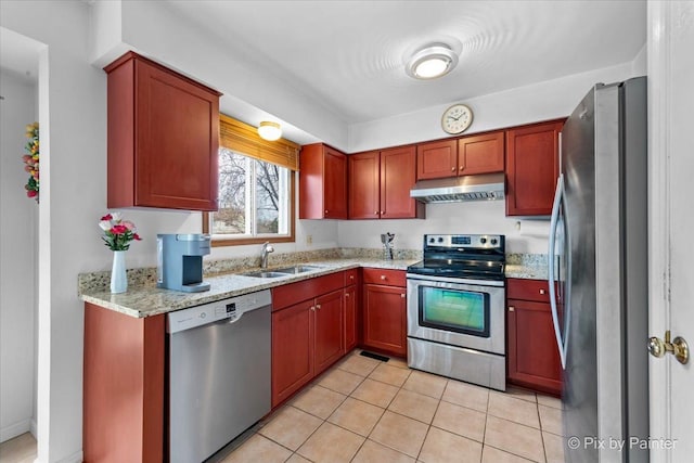
[(567, 462), (648, 460), (646, 128), (639, 77), (596, 85), (562, 130), (548, 263)]

